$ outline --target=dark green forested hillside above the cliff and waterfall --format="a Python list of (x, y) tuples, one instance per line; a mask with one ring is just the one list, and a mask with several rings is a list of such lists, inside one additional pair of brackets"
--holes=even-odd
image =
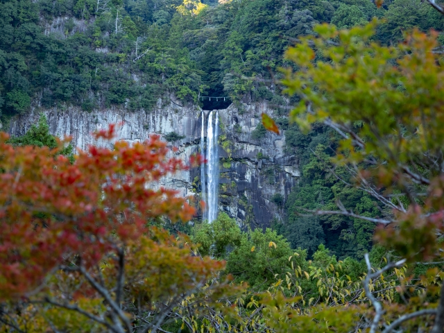
[(262, 79), (281, 77), (291, 38), (316, 23), (350, 28), (372, 17), (386, 19), (377, 33), (386, 44), (412, 26), (441, 31), (444, 22), (420, 0), (379, 10), (365, 0), (2, 0), (1, 119), (36, 99), (44, 108), (149, 111), (164, 92), (185, 103), (205, 94), (280, 107), (280, 88)]

